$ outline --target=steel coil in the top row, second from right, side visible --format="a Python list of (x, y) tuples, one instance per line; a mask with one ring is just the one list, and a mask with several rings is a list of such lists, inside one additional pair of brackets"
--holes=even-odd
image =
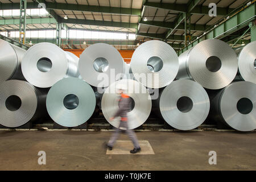
[(203, 40), (179, 56), (177, 79), (189, 78), (207, 89), (229, 85), (237, 74), (236, 52), (218, 39)]

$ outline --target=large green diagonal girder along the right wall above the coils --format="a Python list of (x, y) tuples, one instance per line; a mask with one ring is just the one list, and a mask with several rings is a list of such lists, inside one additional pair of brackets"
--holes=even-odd
[(226, 36), (233, 34), (234, 32), (241, 30), (246, 26), (249, 26), (250, 22), (255, 20), (256, 17), (256, 3), (251, 4), (246, 9), (239, 11), (238, 13), (230, 16), (229, 19), (225, 20), (218, 26), (214, 26), (205, 34), (199, 36), (199, 39), (194, 40), (187, 47), (184, 47), (178, 52), (178, 55), (192, 48), (196, 44), (200, 43), (205, 39), (223, 39)]

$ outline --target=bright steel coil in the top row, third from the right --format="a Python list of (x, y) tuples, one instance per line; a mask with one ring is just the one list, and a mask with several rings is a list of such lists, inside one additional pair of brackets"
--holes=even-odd
[(176, 77), (179, 59), (167, 43), (150, 40), (134, 51), (131, 69), (136, 80), (142, 85), (148, 88), (163, 88)]

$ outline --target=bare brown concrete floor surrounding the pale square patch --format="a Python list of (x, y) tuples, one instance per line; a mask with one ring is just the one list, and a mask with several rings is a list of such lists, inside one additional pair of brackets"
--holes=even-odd
[[(106, 155), (102, 143), (111, 134), (0, 131), (0, 170), (256, 170), (255, 131), (137, 132), (155, 155)], [(39, 151), (46, 152), (46, 165), (38, 164)], [(209, 165), (209, 151), (217, 152), (216, 165)]]

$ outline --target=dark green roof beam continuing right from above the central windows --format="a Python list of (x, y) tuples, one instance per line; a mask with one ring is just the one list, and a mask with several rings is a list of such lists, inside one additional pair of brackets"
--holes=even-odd
[[(155, 27), (162, 27), (162, 28), (168, 28), (168, 29), (174, 29), (176, 27), (176, 30), (184, 30), (184, 24), (179, 24), (175, 26), (172, 22), (152, 22), (152, 21), (141, 21), (140, 24), (144, 24), (147, 26), (155, 26)], [(205, 31), (205, 29), (209, 28), (210, 26), (204, 25), (204, 24), (191, 24), (191, 30), (196, 31)]]

